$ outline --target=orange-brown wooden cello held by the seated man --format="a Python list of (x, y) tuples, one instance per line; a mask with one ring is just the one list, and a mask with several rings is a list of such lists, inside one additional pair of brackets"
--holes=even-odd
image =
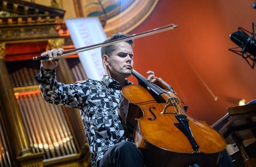
[(129, 110), (120, 115), (134, 124), (134, 142), (146, 166), (217, 166), (224, 138), (204, 121), (185, 113), (187, 106), (173, 92), (161, 89), (133, 69), (139, 85), (122, 89)]

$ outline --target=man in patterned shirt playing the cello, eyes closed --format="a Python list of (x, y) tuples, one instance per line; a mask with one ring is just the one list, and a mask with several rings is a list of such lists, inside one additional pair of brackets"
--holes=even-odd
[[(123, 37), (127, 35), (117, 33), (106, 41)], [(63, 49), (53, 49), (41, 56), (52, 58), (62, 53)], [(104, 46), (101, 56), (106, 72), (101, 81), (86, 79), (69, 85), (56, 81), (57, 59), (41, 62), (37, 80), (42, 96), (47, 102), (80, 110), (92, 166), (143, 166), (142, 153), (132, 141), (133, 127), (124, 124), (118, 114), (128, 109), (121, 89), (132, 85), (126, 78), (133, 70), (133, 41)], [(147, 74), (149, 81), (173, 91), (165, 81), (155, 77), (153, 71)]]

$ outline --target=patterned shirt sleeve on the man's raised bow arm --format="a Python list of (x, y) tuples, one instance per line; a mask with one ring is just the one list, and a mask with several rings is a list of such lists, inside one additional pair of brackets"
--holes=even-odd
[(86, 82), (65, 85), (56, 81), (55, 69), (49, 70), (43, 67), (36, 79), (40, 84), (39, 87), (45, 101), (77, 109), (84, 108), (86, 105), (88, 97), (84, 92), (89, 89)]

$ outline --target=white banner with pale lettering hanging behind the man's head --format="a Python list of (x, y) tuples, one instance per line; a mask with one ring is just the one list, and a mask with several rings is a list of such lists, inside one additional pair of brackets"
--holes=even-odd
[[(65, 19), (67, 29), (76, 48), (101, 43), (107, 39), (98, 18)], [(100, 47), (78, 53), (88, 78), (101, 80), (104, 68), (101, 60)]]

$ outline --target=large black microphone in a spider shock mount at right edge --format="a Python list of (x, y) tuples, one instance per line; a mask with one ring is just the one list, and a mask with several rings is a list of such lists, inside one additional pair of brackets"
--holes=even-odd
[(238, 31), (229, 35), (230, 40), (238, 45), (238, 47), (231, 48), (229, 51), (232, 51), (242, 56), (242, 58), (245, 58), (252, 69), (256, 63), (256, 34), (254, 33), (254, 26), (254, 23), (252, 23), (252, 32), (239, 27)]

